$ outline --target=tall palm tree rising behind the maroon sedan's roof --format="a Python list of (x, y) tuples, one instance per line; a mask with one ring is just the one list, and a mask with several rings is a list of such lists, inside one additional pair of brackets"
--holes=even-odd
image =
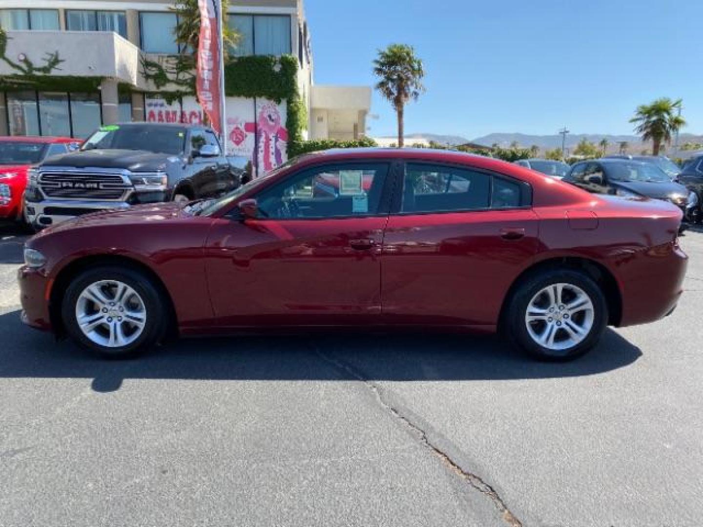
[(373, 61), (373, 73), (378, 77), (376, 89), (393, 105), (398, 116), (398, 146), (405, 145), (405, 105), (418, 100), (425, 91), (423, 61), (415, 56), (412, 46), (391, 44), (378, 50)]

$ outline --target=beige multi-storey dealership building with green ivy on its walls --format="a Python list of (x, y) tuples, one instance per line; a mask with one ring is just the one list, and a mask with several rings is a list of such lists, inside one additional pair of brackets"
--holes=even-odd
[[(201, 122), (170, 6), (0, 0), (0, 135), (84, 138), (115, 122)], [(288, 141), (364, 136), (371, 89), (314, 84), (302, 0), (233, 1), (226, 23), (240, 35), (226, 67), (228, 152), (268, 165), (285, 159)]]

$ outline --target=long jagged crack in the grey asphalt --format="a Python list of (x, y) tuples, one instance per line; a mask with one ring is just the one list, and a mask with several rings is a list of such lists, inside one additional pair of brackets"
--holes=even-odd
[(342, 361), (337, 360), (336, 358), (325, 355), (325, 353), (320, 351), (317, 346), (313, 345), (313, 349), (320, 358), (325, 360), (325, 362), (334, 365), (335, 367), (337, 367), (337, 369), (347, 372), (349, 375), (352, 375), (352, 377), (359, 380), (359, 382), (362, 382), (364, 386), (370, 389), (370, 391), (373, 392), (380, 405), (390, 414), (392, 414), (393, 417), (398, 419), (408, 429), (410, 429), (415, 436), (418, 436), (420, 438), (420, 443), (422, 443), (425, 448), (430, 450), (435, 456), (439, 457), (441, 462), (444, 463), (446, 467), (448, 467), (451, 471), (453, 471), (454, 474), (459, 476), (460, 479), (463, 479), (463, 481), (468, 483), (472, 488), (478, 490), (483, 495), (489, 497), (489, 499), (496, 506), (496, 509), (498, 509), (498, 512), (501, 513), (503, 521), (508, 523), (510, 527), (522, 527), (522, 522), (517, 519), (517, 517), (515, 517), (515, 514), (512, 514), (512, 512), (510, 512), (510, 509), (508, 509), (508, 506), (505, 505), (503, 498), (498, 495), (496, 490), (492, 486), (490, 486), (489, 483), (486, 483), (480, 476), (465, 471), (459, 466), (457, 462), (451, 459), (449, 454), (445, 453), (443, 450), (441, 450), (441, 448), (432, 443), (432, 441), (430, 441), (430, 438), (427, 436), (427, 432), (425, 432), (425, 430), (415, 424), (409, 417), (403, 415), (401, 410), (395, 408), (386, 400), (382, 393), (383, 390), (380, 386), (378, 386), (378, 384), (370, 381), (369, 379), (366, 379), (366, 377), (363, 377), (363, 375), (354, 370), (354, 367), (352, 367), (351, 365), (343, 363)]

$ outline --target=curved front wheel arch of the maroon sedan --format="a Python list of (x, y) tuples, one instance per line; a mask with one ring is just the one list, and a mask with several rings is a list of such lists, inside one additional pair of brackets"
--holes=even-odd
[(160, 293), (165, 301), (166, 312), (169, 320), (167, 321), (167, 337), (173, 337), (178, 333), (178, 318), (176, 317), (176, 308), (169, 291), (161, 280), (160, 276), (153, 271), (146, 263), (142, 263), (129, 256), (120, 256), (114, 254), (96, 254), (84, 256), (68, 263), (62, 268), (56, 279), (53, 281), (51, 291), (49, 292), (49, 316), (51, 318), (51, 326), (58, 334), (65, 334), (63, 318), (61, 316), (61, 306), (63, 298), (70, 282), (86, 269), (96, 268), (98, 266), (119, 266), (129, 268), (132, 271), (137, 271), (145, 275), (154, 287)]

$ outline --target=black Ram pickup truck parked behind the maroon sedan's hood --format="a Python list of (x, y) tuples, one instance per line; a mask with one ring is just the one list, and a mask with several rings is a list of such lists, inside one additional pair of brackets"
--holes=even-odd
[(90, 212), (141, 203), (217, 197), (240, 184), (205, 126), (102, 126), (80, 150), (29, 171), (25, 214), (35, 229)]

